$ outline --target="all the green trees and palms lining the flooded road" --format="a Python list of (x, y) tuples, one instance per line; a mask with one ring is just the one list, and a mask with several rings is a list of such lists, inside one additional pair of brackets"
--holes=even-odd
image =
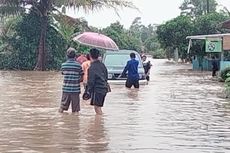
[[(0, 69), (5, 70), (55, 70), (65, 60), (65, 51), (74, 47), (79, 53), (87, 53), (89, 48), (72, 41), (74, 34), (93, 31), (111, 37), (120, 49), (135, 50), (151, 54), (154, 58), (173, 58), (175, 49), (179, 58), (189, 59), (203, 44), (197, 42), (187, 54), (188, 35), (223, 33), (218, 25), (229, 18), (226, 8), (217, 10), (217, 2), (210, 0), (209, 7), (197, 0), (184, 0), (180, 6), (181, 15), (161, 25), (143, 25), (136, 17), (129, 28), (115, 22), (103, 29), (88, 25), (83, 18), (66, 15), (68, 7), (86, 11), (100, 9), (101, 6), (115, 9), (119, 7), (138, 8), (124, 0), (47, 1), (20, 0), (0, 1)], [(27, 6), (31, 6), (28, 8)], [(207, 7), (209, 8), (207, 12)], [(61, 10), (61, 11), (60, 11)], [(150, 21), (151, 22), (151, 21)], [(154, 23), (154, 21), (152, 21)]]

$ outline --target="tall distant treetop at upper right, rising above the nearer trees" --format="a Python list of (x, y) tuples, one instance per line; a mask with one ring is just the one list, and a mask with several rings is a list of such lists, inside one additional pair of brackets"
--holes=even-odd
[(217, 7), (216, 0), (184, 0), (180, 6), (182, 15), (198, 17), (209, 12), (215, 12)]

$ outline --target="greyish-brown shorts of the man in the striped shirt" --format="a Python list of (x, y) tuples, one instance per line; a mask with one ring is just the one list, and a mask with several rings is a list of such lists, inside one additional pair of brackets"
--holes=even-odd
[(71, 103), (72, 112), (80, 111), (80, 97), (79, 93), (62, 93), (61, 108), (68, 110)]

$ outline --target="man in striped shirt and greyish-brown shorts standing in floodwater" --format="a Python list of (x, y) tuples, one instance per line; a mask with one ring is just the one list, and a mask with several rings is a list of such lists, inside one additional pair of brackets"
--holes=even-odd
[(72, 113), (78, 114), (80, 111), (80, 79), (82, 77), (81, 65), (75, 61), (76, 50), (69, 48), (67, 50), (67, 61), (62, 64), (61, 71), (64, 75), (62, 87), (62, 99), (59, 109), (60, 113), (68, 111), (70, 103), (72, 104)]

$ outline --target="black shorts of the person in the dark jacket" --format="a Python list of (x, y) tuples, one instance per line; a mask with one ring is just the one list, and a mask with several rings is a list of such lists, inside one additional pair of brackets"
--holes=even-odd
[(91, 103), (90, 103), (90, 105), (103, 107), (104, 102), (105, 102), (105, 96), (106, 96), (106, 93), (102, 94), (102, 93), (93, 92), (91, 94)]

